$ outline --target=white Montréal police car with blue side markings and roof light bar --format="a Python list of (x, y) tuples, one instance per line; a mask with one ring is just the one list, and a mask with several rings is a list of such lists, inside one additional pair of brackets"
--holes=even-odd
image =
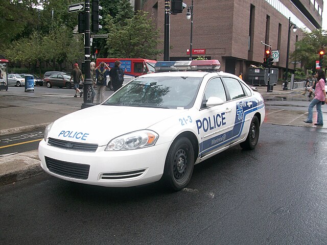
[[(158, 62), (103, 104), (63, 116), (39, 144), (41, 166), (55, 177), (127, 187), (160, 179), (174, 190), (194, 164), (240, 144), (254, 149), (264, 121), (262, 96), (217, 60)], [(191, 71), (190, 71), (191, 70)]]

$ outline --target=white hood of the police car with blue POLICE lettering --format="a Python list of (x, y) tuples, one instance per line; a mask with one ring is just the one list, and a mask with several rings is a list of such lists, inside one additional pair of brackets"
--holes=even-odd
[(147, 129), (182, 110), (98, 105), (56, 120), (48, 137), (106, 145), (120, 135)]

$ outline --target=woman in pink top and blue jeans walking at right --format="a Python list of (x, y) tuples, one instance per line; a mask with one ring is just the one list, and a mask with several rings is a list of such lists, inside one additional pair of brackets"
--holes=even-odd
[(326, 82), (326, 74), (322, 69), (319, 69), (316, 73), (317, 83), (315, 89), (315, 97), (311, 101), (309, 108), (308, 108), (308, 117), (304, 121), (307, 124), (312, 124), (312, 111), (313, 107), (316, 106), (317, 109), (317, 123), (315, 125), (322, 126), (322, 112), (321, 112), (321, 105), (327, 103), (327, 96), (325, 91), (325, 82)]

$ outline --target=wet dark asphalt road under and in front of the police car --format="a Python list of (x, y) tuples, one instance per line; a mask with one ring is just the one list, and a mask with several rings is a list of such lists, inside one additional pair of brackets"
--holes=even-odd
[(326, 133), (264, 124), (196, 165), (183, 191), (46, 174), (0, 187), (2, 244), (326, 244)]

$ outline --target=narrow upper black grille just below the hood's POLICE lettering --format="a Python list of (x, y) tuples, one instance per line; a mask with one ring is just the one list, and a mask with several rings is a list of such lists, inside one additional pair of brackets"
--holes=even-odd
[(98, 144), (78, 143), (53, 138), (49, 138), (48, 144), (57, 148), (79, 152), (96, 152), (98, 149)]

